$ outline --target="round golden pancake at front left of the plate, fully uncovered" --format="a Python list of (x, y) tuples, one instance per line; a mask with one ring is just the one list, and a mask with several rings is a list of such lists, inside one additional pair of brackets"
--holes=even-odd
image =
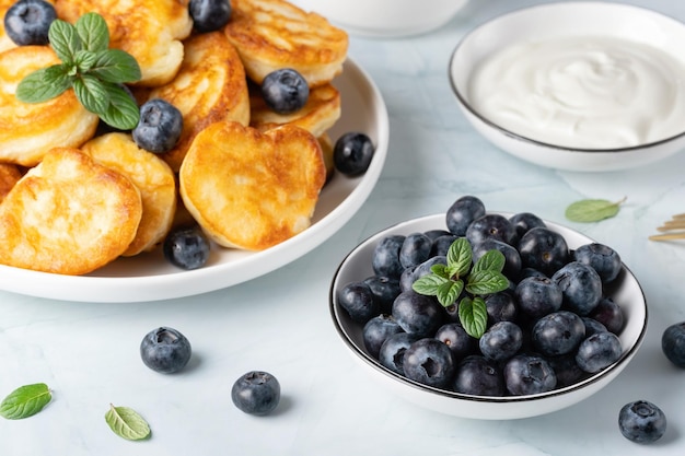
[(141, 213), (140, 194), (128, 178), (78, 149), (54, 149), (0, 204), (0, 264), (91, 272), (128, 248)]

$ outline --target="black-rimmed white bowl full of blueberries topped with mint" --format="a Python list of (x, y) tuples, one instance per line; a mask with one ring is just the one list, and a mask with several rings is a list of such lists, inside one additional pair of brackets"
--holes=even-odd
[(600, 391), (647, 329), (617, 252), (476, 197), (371, 236), (340, 264), (330, 314), (352, 358), (404, 399), (472, 419), (541, 416)]

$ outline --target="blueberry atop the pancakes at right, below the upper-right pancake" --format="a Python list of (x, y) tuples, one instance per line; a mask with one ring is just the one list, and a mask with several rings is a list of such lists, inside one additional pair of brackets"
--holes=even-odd
[(310, 97), (310, 86), (302, 74), (292, 68), (281, 68), (268, 73), (262, 81), (262, 97), (278, 114), (292, 114), (302, 109)]

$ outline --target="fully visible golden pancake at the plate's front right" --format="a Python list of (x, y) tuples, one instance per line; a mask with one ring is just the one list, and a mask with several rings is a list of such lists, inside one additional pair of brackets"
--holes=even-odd
[(262, 250), (310, 226), (326, 167), (302, 128), (262, 133), (224, 121), (195, 138), (178, 179), (185, 207), (217, 244)]

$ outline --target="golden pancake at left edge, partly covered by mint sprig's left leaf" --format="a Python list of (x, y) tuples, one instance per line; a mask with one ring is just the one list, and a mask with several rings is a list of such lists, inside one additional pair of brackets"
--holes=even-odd
[(59, 62), (47, 46), (0, 52), (0, 161), (35, 166), (51, 148), (78, 148), (94, 135), (98, 118), (79, 103), (71, 89), (36, 104), (15, 96), (25, 75)]

